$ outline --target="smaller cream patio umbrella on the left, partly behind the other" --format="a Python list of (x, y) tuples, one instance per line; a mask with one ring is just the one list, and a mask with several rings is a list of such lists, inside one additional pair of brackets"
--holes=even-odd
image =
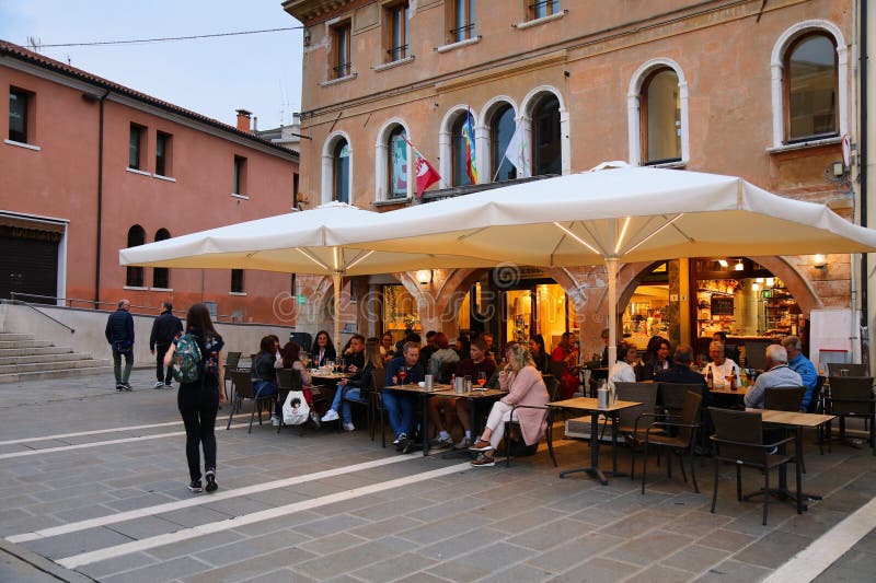
[(343, 202), (268, 217), (119, 252), (125, 266), (195, 269), (261, 269), (285, 273), (332, 276), (334, 338), (339, 341), (343, 276), (387, 273), (425, 268), (480, 267), (482, 261), (405, 250), (376, 252), (343, 245), (337, 233), (356, 228), (373, 237), (383, 232), (381, 214)]

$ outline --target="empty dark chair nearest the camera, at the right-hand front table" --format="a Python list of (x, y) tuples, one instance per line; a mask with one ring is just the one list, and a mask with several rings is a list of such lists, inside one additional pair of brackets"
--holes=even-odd
[[(744, 466), (758, 468), (763, 471), (763, 524), (766, 524), (766, 516), (770, 508), (770, 470), (779, 468), (791, 462), (797, 469), (797, 500), (803, 495), (800, 492), (799, 460), (792, 455), (784, 453), (770, 453), (774, 447), (784, 446), (794, 442), (794, 438), (785, 438), (775, 443), (763, 443), (763, 420), (761, 413), (757, 411), (737, 411), (733, 409), (718, 409), (710, 407), (712, 422), (715, 424), (715, 434), (712, 442), (715, 444), (715, 486), (712, 490), (712, 513), (715, 512), (715, 504), (718, 497), (718, 469), (722, 462), (727, 462), (736, 466), (736, 499), (742, 500), (742, 475)], [(800, 512), (799, 505), (797, 513)]]

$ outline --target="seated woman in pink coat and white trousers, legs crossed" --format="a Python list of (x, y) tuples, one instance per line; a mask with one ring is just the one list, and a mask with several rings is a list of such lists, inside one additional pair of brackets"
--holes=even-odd
[[(472, 462), (474, 467), (495, 466), (494, 453), (505, 434), (505, 423), (511, 418), (511, 408), (517, 405), (544, 407), (550, 400), (548, 388), (541, 378), (541, 373), (535, 369), (532, 355), (523, 346), (510, 347), (507, 351), (508, 364), (499, 373), (499, 385), (509, 393), (500, 400), (493, 404), (489, 417), (486, 419), (486, 429), (481, 439), (470, 447), (473, 452), (481, 452), (477, 459)], [(516, 409), (515, 421), (520, 423), (520, 432), (527, 445), (538, 443), (546, 429), (545, 409)]]

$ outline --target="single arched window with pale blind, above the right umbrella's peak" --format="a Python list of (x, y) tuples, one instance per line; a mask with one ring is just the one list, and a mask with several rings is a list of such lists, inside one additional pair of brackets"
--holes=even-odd
[(681, 100), (672, 69), (657, 69), (642, 83), (639, 112), (643, 163), (681, 160)]

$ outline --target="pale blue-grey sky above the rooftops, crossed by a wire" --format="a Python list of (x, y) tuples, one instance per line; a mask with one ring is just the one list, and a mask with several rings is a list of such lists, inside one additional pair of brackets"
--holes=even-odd
[[(280, 0), (0, 0), (0, 38), (22, 46), (299, 25)], [(39, 53), (226, 124), (244, 108), (267, 129), (300, 109), (300, 30)]]

